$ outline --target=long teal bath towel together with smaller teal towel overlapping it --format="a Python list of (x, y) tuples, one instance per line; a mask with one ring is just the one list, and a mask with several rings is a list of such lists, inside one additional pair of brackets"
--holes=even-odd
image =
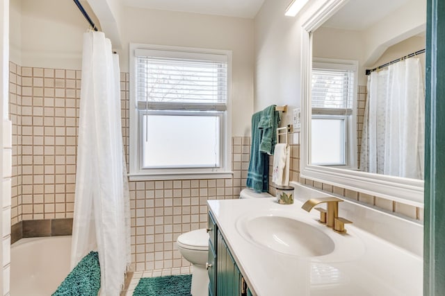
[(250, 146), (247, 186), (256, 192), (268, 191), (268, 154), (273, 154), (279, 123), (280, 114), (275, 111), (275, 105), (271, 105), (252, 116), (252, 146)]

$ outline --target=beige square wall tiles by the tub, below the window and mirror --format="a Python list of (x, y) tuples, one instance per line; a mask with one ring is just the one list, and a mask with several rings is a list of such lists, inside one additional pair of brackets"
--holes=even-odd
[[(43, 225), (49, 234), (48, 225), (52, 227), (58, 225), (59, 219), (73, 217), (80, 77), (80, 71), (19, 67), (10, 63), (11, 223), (14, 233), (22, 229), (22, 234), (18, 235), (31, 235), (25, 234), (25, 229), (34, 227), (33, 224)], [(120, 77), (122, 134), (128, 163), (129, 73), (121, 73)], [(238, 198), (245, 186), (250, 137), (233, 137), (232, 151), (234, 175), (229, 179), (129, 183), (133, 271), (190, 265), (176, 250), (177, 236), (206, 226), (207, 200)], [(423, 218), (423, 212), (416, 207), (312, 180), (300, 180), (300, 145), (293, 143), (291, 180), (410, 218)], [(275, 194), (273, 187), (270, 193)]]

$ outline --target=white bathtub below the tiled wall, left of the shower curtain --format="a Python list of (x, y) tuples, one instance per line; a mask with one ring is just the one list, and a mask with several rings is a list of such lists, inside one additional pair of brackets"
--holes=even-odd
[(10, 295), (49, 296), (70, 272), (71, 236), (22, 238), (11, 245)]

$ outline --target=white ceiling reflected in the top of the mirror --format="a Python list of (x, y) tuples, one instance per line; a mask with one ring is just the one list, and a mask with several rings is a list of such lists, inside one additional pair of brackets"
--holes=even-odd
[(363, 31), (410, 0), (350, 0), (323, 26)]

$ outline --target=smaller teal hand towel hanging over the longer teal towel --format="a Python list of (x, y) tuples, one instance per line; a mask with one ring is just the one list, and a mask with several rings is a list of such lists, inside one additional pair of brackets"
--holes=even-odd
[(258, 123), (258, 128), (263, 130), (259, 151), (268, 155), (273, 155), (277, 143), (277, 128), (281, 121), (280, 112), (275, 111), (275, 107), (276, 105), (270, 105), (261, 111), (261, 119)]

